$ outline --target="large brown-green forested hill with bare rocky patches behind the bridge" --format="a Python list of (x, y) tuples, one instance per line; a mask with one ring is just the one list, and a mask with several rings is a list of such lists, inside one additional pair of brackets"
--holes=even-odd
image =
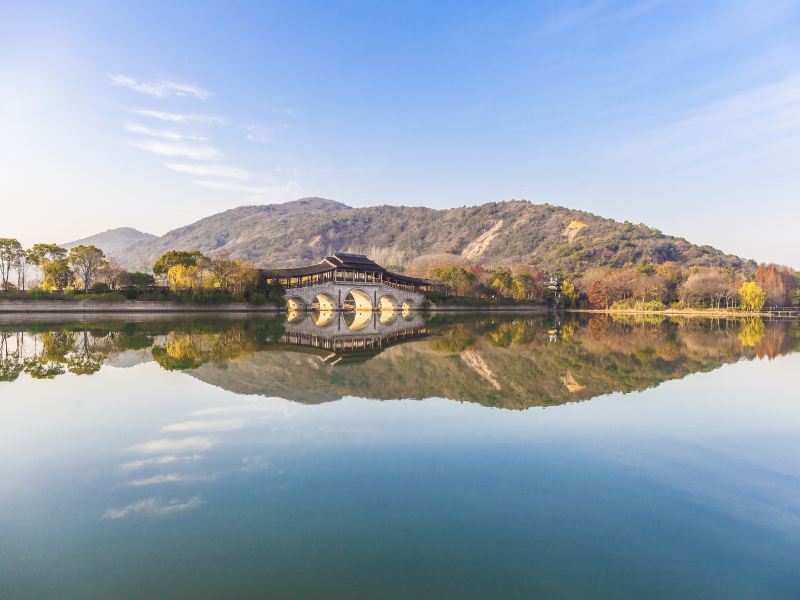
[(446, 210), (351, 208), (322, 198), (243, 206), (135, 243), (120, 258), (129, 268), (138, 269), (151, 266), (172, 249), (197, 249), (211, 255), (224, 252), (259, 266), (297, 266), (336, 251), (357, 252), (412, 272), (443, 263), (531, 265), (570, 272), (598, 265), (666, 261), (755, 268), (753, 262), (645, 225), (526, 201)]

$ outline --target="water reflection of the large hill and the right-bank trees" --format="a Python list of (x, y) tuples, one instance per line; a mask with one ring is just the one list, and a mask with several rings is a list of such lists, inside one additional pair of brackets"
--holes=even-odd
[[(645, 389), (752, 358), (764, 348), (747, 345), (746, 326), (597, 317), (568, 321), (550, 342), (543, 319), (478, 321), (443, 327), (436, 336), (357, 364), (333, 368), (321, 354), (285, 348), (240, 356), (224, 369), (203, 365), (191, 374), (237, 393), (299, 402), (444, 397), (525, 408)], [(759, 343), (771, 340), (769, 356), (797, 346), (797, 331), (792, 334), (785, 324), (770, 323), (766, 332)]]

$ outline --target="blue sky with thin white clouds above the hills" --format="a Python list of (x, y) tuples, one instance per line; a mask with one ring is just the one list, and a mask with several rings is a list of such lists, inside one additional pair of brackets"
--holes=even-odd
[(0, 237), (526, 199), (800, 267), (800, 0), (0, 14)]

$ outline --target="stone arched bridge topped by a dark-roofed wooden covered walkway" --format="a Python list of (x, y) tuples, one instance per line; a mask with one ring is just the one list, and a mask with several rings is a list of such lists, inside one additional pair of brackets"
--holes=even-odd
[(321, 263), (263, 272), (286, 289), (290, 311), (411, 311), (422, 306), (430, 282), (387, 271), (363, 254), (329, 256)]

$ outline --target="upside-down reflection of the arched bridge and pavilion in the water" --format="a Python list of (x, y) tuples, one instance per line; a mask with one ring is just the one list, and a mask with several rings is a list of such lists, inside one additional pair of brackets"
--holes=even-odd
[(303, 346), (322, 362), (361, 362), (391, 345), (430, 335), (418, 313), (290, 312), (281, 342)]

